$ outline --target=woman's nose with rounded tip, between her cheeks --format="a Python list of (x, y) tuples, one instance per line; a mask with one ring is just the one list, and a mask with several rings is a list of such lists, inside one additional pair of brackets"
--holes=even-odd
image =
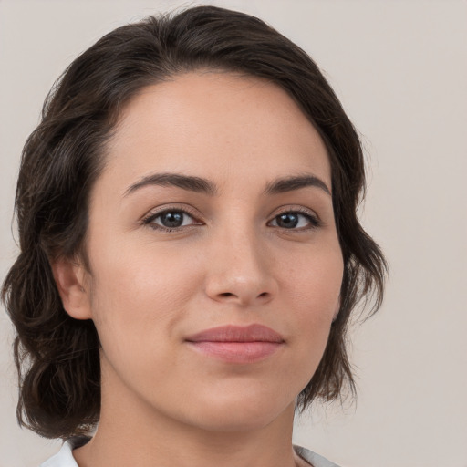
[(237, 306), (262, 305), (277, 292), (272, 256), (254, 233), (230, 233), (212, 244), (206, 295)]

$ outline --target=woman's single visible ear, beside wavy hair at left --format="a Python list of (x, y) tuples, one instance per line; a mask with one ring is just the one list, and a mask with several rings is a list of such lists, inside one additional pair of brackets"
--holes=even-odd
[(84, 265), (73, 259), (60, 257), (51, 263), (51, 267), (67, 314), (76, 319), (90, 319), (88, 272)]

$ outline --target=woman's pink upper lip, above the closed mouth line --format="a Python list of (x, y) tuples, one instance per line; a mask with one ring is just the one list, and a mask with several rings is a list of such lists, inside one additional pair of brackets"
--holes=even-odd
[(189, 342), (284, 342), (284, 337), (263, 325), (220, 326), (188, 336)]

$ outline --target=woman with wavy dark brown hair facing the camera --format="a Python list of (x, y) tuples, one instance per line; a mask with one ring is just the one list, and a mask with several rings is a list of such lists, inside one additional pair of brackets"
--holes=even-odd
[(332, 89), (257, 18), (149, 17), (78, 57), (26, 142), (4, 285), (18, 420), (67, 440), (43, 466), (335, 465), (292, 427), (353, 391), (348, 319), (382, 299), (363, 188)]

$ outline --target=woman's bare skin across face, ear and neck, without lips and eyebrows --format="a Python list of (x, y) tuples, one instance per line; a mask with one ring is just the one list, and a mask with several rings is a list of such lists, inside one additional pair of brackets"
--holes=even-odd
[[(161, 172), (202, 177), (217, 191), (129, 192)], [(101, 420), (74, 451), (80, 467), (304, 463), (292, 451), (295, 400), (323, 355), (343, 262), (326, 189), (265, 192), (303, 174), (331, 191), (317, 130), (264, 80), (190, 73), (130, 101), (91, 193), (90, 270), (53, 265), (67, 312), (93, 319), (102, 344)], [(158, 230), (167, 209), (190, 215)], [(297, 211), (296, 227), (279, 223)], [(284, 338), (260, 361), (233, 364), (185, 340), (254, 323)]]

